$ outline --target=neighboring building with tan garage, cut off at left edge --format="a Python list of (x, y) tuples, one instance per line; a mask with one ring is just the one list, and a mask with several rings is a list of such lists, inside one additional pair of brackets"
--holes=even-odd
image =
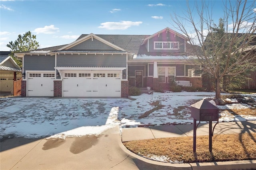
[(22, 77), (22, 70), (9, 56), (10, 51), (0, 51), (0, 92), (14, 93), (14, 81)]

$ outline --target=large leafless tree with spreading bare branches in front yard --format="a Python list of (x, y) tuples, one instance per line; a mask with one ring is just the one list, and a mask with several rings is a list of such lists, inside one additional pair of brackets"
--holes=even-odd
[[(184, 15), (171, 15), (171, 24), (188, 37), (193, 63), (215, 79), (216, 99), (224, 76), (236, 76), (255, 66), (255, 1), (223, 1), (223, 18), (214, 22), (211, 1), (187, 2)], [(188, 30), (191, 28), (191, 30)]]

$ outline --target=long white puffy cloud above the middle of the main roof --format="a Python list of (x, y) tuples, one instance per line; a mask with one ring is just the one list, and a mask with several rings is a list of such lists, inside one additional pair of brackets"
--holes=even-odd
[(114, 30), (114, 29), (120, 29), (120, 30), (124, 30), (127, 29), (131, 26), (138, 26), (142, 24), (142, 21), (137, 21), (137, 22), (133, 22), (133, 21), (120, 21), (120, 22), (104, 22), (101, 23), (99, 26), (99, 28), (106, 28), (109, 30)]

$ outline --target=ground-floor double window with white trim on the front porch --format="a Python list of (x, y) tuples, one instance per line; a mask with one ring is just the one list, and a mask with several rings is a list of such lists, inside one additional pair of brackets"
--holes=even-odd
[(158, 82), (165, 83), (172, 82), (175, 80), (175, 67), (158, 67)]

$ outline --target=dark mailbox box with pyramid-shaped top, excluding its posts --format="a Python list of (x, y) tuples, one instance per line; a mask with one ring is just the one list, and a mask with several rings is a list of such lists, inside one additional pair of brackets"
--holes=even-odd
[(198, 121), (218, 121), (219, 108), (206, 100), (200, 100), (190, 107), (191, 116)]

